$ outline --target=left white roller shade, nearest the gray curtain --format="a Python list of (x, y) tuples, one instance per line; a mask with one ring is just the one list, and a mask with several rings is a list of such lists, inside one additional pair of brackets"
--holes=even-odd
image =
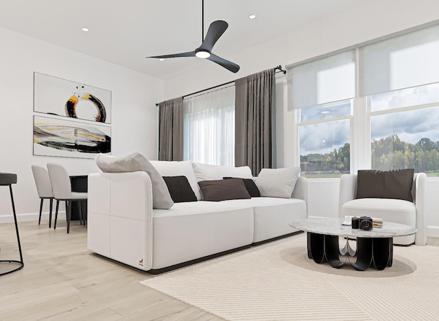
[(288, 68), (289, 107), (298, 109), (355, 97), (355, 50)]

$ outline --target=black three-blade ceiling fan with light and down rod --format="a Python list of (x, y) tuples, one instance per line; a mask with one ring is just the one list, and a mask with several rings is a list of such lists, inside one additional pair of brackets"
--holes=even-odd
[(224, 34), (228, 27), (228, 23), (226, 21), (217, 20), (213, 21), (207, 30), (206, 37), (204, 36), (204, 0), (202, 0), (202, 31), (201, 31), (201, 41), (202, 44), (200, 47), (195, 49), (194, 51), (187, 51), (185, 53), (174, 53), (171, 55), (154, 55), (152, 57), (147, 58), (176, 58), (176, 57), (199, 57), (207, 60), (211, 60), (211, 62), (215, 62), (215, 64), (219, 64), (219, 66), (223, 66), (224, 68), (230, 70), (232, 73), (237, 73), (239, 70), (239, 66), (234, 62), (230, 62), (225, 60), (222, 57), (214, 55), (212, 53), (213, 45), (217, 42), (219, 37)]

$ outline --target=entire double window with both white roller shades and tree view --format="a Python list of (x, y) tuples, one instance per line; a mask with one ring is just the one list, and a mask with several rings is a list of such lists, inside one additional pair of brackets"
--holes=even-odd
[(305, 177), (439, 176), (439, 21), (287, 66)]

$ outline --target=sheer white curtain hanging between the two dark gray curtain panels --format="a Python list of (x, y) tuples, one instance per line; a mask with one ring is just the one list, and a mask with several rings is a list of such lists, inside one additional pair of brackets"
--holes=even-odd
[(183, 159), (234, 166), (235, 84), (183, 99)]

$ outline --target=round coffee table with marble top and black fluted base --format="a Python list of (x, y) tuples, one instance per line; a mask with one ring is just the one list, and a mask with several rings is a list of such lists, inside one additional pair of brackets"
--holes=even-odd
[[(377, 270), (392, 266), (393, 237), (416, 233), (414, 227), (393, 222), (383, 222), (383, 227), (370, 231), (353, 229), (342, 225), (342, 222), (342, 218), (301, 218), (293, 220), (289, 226), (307, 231), (309, 259), (318, 264), (328, 262), (333, 268), (341, 268), (350, 261), (350, 257), (357, 257), (351, 265), (359, 271), (364, 271), (369, 266), (374, 266)], [(340, 236), (346, 237), (346, 245), (341, 250)], [(349, 238), (357, 239), (357, 251), (353, 251), (349, 245)], [(340, 261), (340, 255), (347, 259)]]

